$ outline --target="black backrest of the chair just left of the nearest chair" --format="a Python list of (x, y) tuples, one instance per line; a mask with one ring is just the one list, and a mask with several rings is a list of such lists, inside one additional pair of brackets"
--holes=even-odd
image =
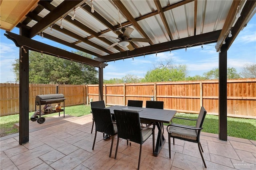
[(92, 115), (94, 117), (96, 131), (110, 135), (114, 134), (114, 126), (109, 109), (92, 107)]

